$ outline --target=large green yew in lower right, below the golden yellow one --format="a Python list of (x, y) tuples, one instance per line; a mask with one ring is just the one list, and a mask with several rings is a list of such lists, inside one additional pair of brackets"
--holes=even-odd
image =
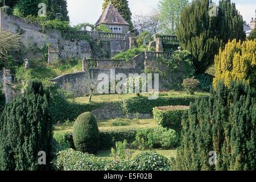
[[(255, 89), (218, 82), (210, 99), (197, 100), (184, 114), (174, 170), (255, 171), (255, 121)], [(217, 154), (215, 166), (210, 151)]]

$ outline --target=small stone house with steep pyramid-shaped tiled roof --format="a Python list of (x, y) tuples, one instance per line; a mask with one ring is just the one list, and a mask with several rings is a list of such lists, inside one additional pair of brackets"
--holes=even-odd
[(109, 3), (104, 13), (97, 20), (95, 26), (105, 24), (113, 33), (126, 34), (129, 31), (129, 23), (118, 13), (118, 10)]

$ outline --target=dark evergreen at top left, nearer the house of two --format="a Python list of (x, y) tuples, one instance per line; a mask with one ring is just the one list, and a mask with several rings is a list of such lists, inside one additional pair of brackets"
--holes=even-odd
[(67, 0), (46, 0), (47, 17), (49, 19), (59, 18), (69, 21)]

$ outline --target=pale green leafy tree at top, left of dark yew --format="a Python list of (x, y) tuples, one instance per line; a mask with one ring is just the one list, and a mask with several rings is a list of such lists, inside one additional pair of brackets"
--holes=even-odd
[(188, 0), (161, 0), (159, 2), (160, 31), (163, 34), (176, 35), (180, 15)]

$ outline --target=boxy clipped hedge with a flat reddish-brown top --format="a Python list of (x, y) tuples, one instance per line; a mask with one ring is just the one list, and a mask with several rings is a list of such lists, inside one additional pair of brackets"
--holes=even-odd
[(181, 119), (188, 106), (166, 106), (153, 109), (154, 119), (158, 125), (181, 131)]

